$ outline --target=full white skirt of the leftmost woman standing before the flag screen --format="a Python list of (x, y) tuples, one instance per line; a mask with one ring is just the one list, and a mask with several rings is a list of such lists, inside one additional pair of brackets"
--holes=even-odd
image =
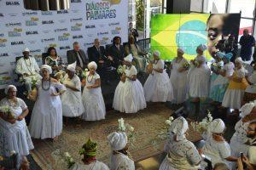
[(173, 99), (172, 84), (166, 71), (150, 74), (143, 89), (146, 101), (166, 102)]

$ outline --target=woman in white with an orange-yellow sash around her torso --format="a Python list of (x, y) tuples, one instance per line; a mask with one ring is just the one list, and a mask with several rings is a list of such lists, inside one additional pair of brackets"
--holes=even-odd
[(241, 57), (236, 58), (235, 66), (235, 71), (232, 77), (230, 77), (229, 87), (224, 94), (222, 106), (235, 109), (235, 112), (238, 113), (238, 110), (241, 108), (241, 100), (248, 83), (245, 79), (247, 70), (242, 66)]

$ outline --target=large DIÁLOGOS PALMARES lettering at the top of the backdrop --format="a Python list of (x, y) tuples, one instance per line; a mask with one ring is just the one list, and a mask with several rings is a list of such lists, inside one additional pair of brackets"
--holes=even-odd
[[(110, 1), (110, 0), (108, 0)], [(101, 3), (86, 3), (86, 20), (105, 20), (116, 18), (116, 9), (111, 6), (120, 3), (120, 0), (110, 2), (102, 1)], [(113, 9), (112, 9), (113, 8)]]

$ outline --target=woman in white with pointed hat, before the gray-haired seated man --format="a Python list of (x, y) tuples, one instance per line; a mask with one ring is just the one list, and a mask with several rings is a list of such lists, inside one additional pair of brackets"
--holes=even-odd
[(67, 74), (64, 77), (63, 84), (67, 91), (61, 95), (63, 116), (76, 117), (84, 113), (82, 103), (81, 82), (75, 74), (76, 62), (67, 66)]

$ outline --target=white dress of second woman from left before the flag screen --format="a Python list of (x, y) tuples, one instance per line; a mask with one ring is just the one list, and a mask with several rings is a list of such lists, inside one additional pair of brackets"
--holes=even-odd
[(179, 63), (176, 62), (176, 59), (172, 60), (172, 71), (170, 80), (173, 87), (173, 101), (174, 104), (183, 103), (186, 100), (186, 95), (188, 92), (187, 84), (187, 74), (188, 71), (179, 72), (179, 68), (183, 67), (184, 63), (188, 63), (186, 59), (182, 59)]

